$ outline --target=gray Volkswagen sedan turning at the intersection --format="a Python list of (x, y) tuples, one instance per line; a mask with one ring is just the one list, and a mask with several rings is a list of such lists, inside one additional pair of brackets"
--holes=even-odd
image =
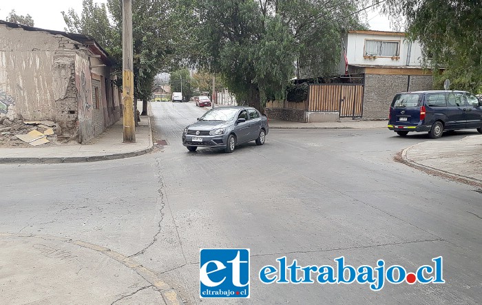
[(198, 147), (220, 147), (227, 153), (249, 141), (263, 145), (268, 134), (268, 118), (252, 107), (217, 107), (198, 118), (182, 132), (182, 144), (189, 151)]

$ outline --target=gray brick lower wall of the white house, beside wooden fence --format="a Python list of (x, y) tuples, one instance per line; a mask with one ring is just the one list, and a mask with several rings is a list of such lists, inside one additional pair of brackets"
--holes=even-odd
[(363, 118), (388, 118), (393, 96), (406, 92), (407, 75), (366, 74)]

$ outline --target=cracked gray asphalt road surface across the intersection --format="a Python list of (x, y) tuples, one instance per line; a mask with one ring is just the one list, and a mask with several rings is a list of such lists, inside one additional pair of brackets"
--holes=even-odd
[[(70, 165), (0, 165), (0, 232), (75, 238), (143, 264), (189, 304), (477, 304), (482, 193), (394, 162), (426, 135), (385, 129), (274, 130), (263, 146), (195, 153), (182, 129), (193, 103), (153, 103), (162, 150)], [(470, 132), (458, 132), (454, 140)], [(441, 138), (440, 140), (444, 140)], [(251, 249), (251, 298), (203, 299), (200, 248)], [(443, 256), (446, 284), (261, 284), (286, 255), (298, 264), (399, 264)], [(80, 283), (82, 286), (83, 284)]]

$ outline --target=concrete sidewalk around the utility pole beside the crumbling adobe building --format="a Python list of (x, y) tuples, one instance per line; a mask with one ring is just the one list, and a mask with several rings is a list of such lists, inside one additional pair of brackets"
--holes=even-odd
[(140, 117), (136, 143), (123, 143), (123, 120), (88, 144), (69, 143), (36, 147), (0, 147), (0, 163), (62, 163), (113, 160), (140, 156), (153, 148), (149, 116)]

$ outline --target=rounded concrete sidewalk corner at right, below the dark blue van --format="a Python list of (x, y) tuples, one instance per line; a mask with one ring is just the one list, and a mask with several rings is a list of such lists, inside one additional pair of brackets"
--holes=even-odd
[(402, 151), (401, 161), (437, 176), (482, 187), (482, 134), (412, 145)]

